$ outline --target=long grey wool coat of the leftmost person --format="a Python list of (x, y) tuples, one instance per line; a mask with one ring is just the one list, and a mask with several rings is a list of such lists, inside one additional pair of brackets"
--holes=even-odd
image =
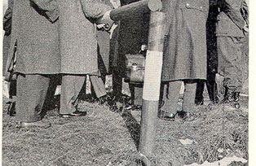
[(8, 55), (14, 55), (16, 45), (16, 72), (60, 72), (59, 21), (51, 22), (43, 15), (33, 0), (14, 0)]

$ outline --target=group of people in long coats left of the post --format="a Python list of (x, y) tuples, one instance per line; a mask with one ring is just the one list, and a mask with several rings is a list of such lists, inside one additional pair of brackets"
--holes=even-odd
[(15, 111), (20, 127), (50, 126), (42, 120), (43, 109), (60, 76), (60, 115), (85, 116), (77, 104), (86, 88), (86, 75), (95, 91), (104, 85), (99, 80), (100, 32), (95, 23), (100, 18), (105, 22), (99, 26), (111, 24), (107, 11), (113, 7), (105, 1), (25, 0), (10, 2), (10, 8), (6, 76), (15, 61)]

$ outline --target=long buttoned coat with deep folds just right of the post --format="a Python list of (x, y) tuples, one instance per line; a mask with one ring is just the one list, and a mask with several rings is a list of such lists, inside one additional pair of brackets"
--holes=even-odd
[(162, 81), (206, 79), (206, 20), (209, 1), (166, 0)]

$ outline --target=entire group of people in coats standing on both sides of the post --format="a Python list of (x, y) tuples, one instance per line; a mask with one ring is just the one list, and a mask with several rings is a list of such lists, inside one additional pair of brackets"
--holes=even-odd
[[(42, 116), (47, 100), (51, 100), (47, 98), (53, 96), (60, 82), (60, 116), (86, 116), (86, 111), (79, 111), (77, 105), (85, 93), (87, 75), (97, 98), (102, 99), (107, 96), (104, 76), (113, 74), (113, 100), (120, 102), (126, 75), (125, 56), (138, 54), (148, 41), (149, 15), (118, 23), (110, 19), (113, 8), (130, 2), (136, 1), (9, 0), (4, 18), (5, 35), (10, 37), (5, 76), (8, 81), (10, 76), (16, 79), (15, 111), (20, 127), (51, 125)], [(217, 37), (218, 69), (213, 75), (224, 76), (223, 103), (239, 108), (241, 47), (248, 24), (245, 1), (166, 0), (162, 3), (166, 35), (160, 116), (174, 119), (177, 115), (182, 82), (183, 111), (179, 115), (189, 118), (196, 103), (202, 103), (203, 98), (195, 103), (196, 89), (205, 80), (209, 81), (211, 51), (207, 41), (214, 37)], [(217, 36), (215, 33), (209, 36), (206, 23), (212, 17), (210, 14), (216, 13)], [(117, 28), (113, 24), (118, 24)], [(213, 88), (208, 91), (216, 94), (215, 81), (210, 80), (207, 85)], [(138, 109), (142, 105), (143, 84), (130, 82), (129, 87), (132, 102), (125, 108)], [(215, 95), (211, 99), (217, 102)]]

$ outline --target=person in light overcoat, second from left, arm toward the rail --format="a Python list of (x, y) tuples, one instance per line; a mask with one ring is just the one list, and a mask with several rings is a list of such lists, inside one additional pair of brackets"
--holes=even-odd
[(57, 11), (60, 20), (60, 115), (85, 116), (86, 111), (78, 111), (77, 104), (86, 87), (86, 75), (98, 74), (95, 23), (112, 7), (99, 0), (35, 1), (45, 11)]

